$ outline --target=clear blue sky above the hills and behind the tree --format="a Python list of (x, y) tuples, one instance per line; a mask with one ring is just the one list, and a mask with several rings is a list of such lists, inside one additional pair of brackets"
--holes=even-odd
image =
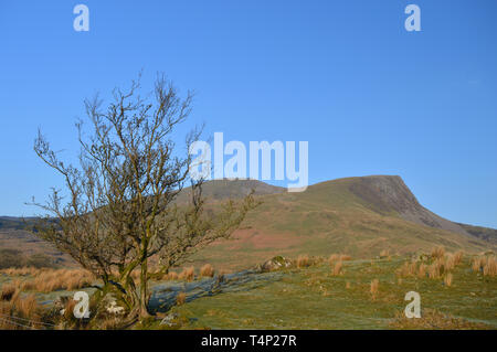
[[(89, 8), (89, 32), (73, 8)], [(406, 32), (404, 8), (421, 8)], [(309, 181), (399, 174), (453, 221), (497, 227), (497, 1), (2, 1), (0, 214), (60, 179), (83, 99), (161, 71), (225, 140), (308, 140)]]

